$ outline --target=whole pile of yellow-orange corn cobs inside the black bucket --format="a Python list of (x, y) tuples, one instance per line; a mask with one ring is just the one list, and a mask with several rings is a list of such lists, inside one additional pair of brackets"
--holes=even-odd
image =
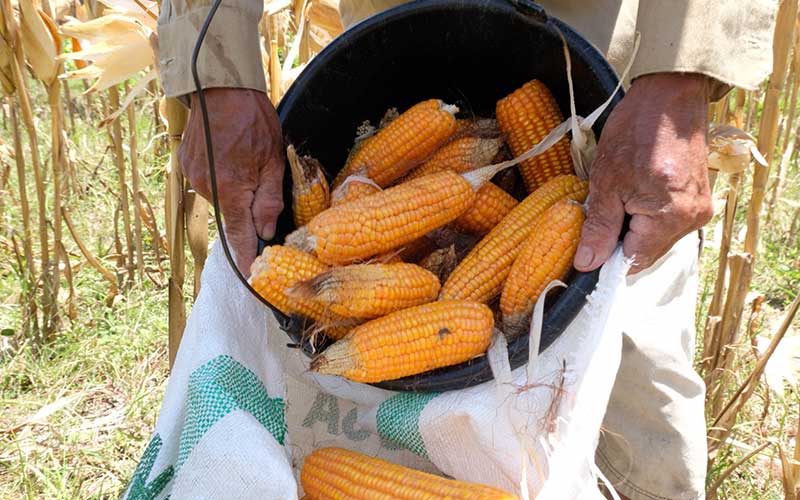
[(568, 139), (518, 173), (482, 168), (562, 121), (549, 90), (526, 83), (496, 120), (457, 112), (431, 99), (387, 113), (330, 188), (322, 165), (289, 147), (297, 230), (264, 250), (251, 282), (335, 339), (312, 370), (381, 382), (481, 356), (495, 328), (523, 333), (547, 284), (572, 269), (588, 186)]

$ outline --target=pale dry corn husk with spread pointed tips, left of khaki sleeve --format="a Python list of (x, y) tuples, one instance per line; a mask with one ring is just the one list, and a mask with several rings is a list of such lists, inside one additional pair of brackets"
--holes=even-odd
[(61, 26), (61, 32), (89, 42), (80, 52), (61, 56), (92, 61), (83, 69), (61, 75), (61, 78), (96, 78), (87, 93), (123, 82), (155, 63), (150, 45), (152, 30), (133, 17), (109, 14), (85, 23), (72, 20)]

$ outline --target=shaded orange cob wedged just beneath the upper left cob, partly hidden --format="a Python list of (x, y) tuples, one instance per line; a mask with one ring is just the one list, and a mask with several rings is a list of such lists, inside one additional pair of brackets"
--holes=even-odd
[(412, 170), (405, 180), (444, 170), (463, 174), (490, 165), (502, 144), (502, 139), (497, 138), (467, 136), (455, 139), (442, 146), (428, 161)]

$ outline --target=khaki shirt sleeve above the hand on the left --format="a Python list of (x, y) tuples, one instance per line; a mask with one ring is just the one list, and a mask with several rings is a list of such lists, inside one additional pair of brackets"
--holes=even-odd
[[(194, 92), (191, 58), (211, 0), (165, 0), (158, 19), (158, 66), (168, 97)], [(261, 0), (223, 2), (197, 60), (203, 88), (231, 87), (266, 92), (258, 22)]]

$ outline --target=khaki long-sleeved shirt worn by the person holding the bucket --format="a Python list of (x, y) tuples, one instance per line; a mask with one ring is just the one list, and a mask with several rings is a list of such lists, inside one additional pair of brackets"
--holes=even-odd
[[(404, 0), (341, 0), (345, 26)], [(159, 70), (167, 96), (194, 91), (192, 49), (210, 0), (164, 0), (158, 20)], [(540, 0), (545, 10), (592, 42), (617, 72), (639, 52), (630, 78), (660, 72), (715, 78), (713, 97), (728, 86), (755, 89), (772, 69), (777, 0)], [(266, 90), (258, 22), (262, 0), (224, 2), (198, 58), (204, 88)], [(478, 28), (479, 29), (479, 28)]]

